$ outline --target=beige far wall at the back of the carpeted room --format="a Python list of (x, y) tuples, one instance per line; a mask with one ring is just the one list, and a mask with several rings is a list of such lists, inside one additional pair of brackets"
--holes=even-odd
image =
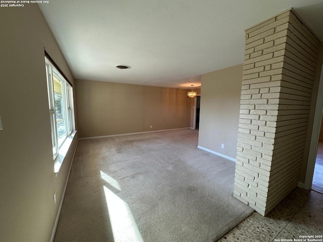
[(76, 80), (76, 102), (80, 138), (190, 127), (185, 89)]

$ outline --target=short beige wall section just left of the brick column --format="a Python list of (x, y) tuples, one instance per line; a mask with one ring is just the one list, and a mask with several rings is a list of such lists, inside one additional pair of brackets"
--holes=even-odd
[[(198, 145), (236, 158), (242, 65), (202, 75)], [(224, 149), (221, 148), (224, 144)]]

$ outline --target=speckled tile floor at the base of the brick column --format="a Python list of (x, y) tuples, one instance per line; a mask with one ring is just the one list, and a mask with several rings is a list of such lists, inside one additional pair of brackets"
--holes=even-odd
[(266, 217), (254, 212), (218, 241), (297, 241), (301, 235), (323, 235), (323, 194), (296, 188)]

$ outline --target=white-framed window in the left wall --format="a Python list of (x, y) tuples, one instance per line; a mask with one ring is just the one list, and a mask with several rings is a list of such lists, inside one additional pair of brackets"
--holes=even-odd
[(52, 153), (55, 159), (66, 139), (75, 130), (73, 88), (45, 57)]

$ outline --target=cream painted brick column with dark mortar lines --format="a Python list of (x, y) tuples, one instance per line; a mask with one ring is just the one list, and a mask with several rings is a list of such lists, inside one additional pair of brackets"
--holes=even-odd
[(298, 184), (318, 45), (294, 10), (246, 30), (234, 197), (262, 215)]

